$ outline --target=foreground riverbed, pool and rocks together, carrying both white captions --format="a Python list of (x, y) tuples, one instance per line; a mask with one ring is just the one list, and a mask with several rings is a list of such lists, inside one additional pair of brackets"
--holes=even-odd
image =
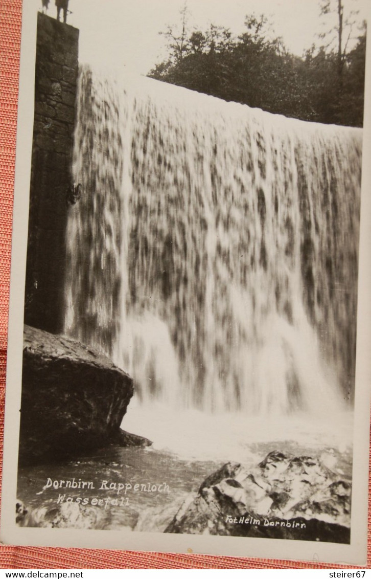
[(343, 467), (334, 449), (321, 458), (274, 450), (243, 466), (112, 446), (21, 468), (17, 518), (21, 526), (348, 543), (351, 483)]

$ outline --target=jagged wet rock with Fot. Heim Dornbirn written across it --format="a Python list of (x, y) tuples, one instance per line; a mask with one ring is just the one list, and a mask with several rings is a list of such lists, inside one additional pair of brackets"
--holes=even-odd
[(317, 457), (274, 451), (210, 475), (165, 532), (349, 543), (350, 499), (350, 483)]

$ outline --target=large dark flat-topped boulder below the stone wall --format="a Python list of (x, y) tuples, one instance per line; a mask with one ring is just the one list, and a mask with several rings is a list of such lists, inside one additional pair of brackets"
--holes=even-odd
[(19, 459), (78, 456), (117, 439), (133, 380), (91, 347), (25, 326)]

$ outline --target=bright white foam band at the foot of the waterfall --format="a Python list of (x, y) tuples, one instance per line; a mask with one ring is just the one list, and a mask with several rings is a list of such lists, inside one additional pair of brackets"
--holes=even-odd
[[(336, 451), (351, 456), (351, 412), (322, 417), (248, 416), (244, 412), (210, 414), (196, 409), (169, 412), (167, 405), (131, 401), (122, 428), (153, 441), (155, 450), (188, 460), (238, 461), (256, 464), (271, 450), (298, 454)], [(274, 446), (272, 445), (274, 441)], [(329, 457), (324, 457), (324, 461)], [(328, 464), (330, 467), (330, 464)]]

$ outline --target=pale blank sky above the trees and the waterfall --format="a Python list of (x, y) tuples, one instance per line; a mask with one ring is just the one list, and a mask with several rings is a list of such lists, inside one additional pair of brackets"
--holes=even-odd
[[(334, 0), (332, 0), (334, 1)], [(346, 9), (366, 17), (369, 0), (344, 0)], [(164, 57), (167, 24), (178, 23), (184, 0), (69, 0), (68, 23), (80, 29), (80, 62), (103, 66), (124, 65), (130, 72), (147, 74)], [(329, 29), (336, 19), (319, 16), (318, 0), (188, 0), (189, 25), (207, 28), (223, 25), (238, 34), (246, 14), (265, 14), (291, 52), (302, 56), (318, 32)], [(54, 0), (49, 15), (54, 16)], [(357, 30), (355, 30), (357, 35)]]

